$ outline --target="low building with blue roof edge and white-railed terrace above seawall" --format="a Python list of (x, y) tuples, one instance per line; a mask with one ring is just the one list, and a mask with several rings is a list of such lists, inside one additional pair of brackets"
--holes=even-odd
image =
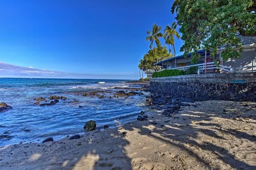
[[(230, 58), (225, 61), (221, 57), (221, 51), (223, 51), (226, 46), (223, 45), (220, 49), (218, 49), (216, 56), (219, 59), (219, 66), (216, 66), (213, 62), (214, 58), (210, 56), (210, 51), (205, 50), (198, 51), (198, 54), (201, 55), (201, 58), (197, 63), (194, 64), (190, 62), (191, 53), (189, 53), (187, 54), (186, 58), (183, 55), (180, 55), (157, 62), (155, 65), (160, 66), (162, 69), (186, 69), (191, 65), (195, 65), (200, 68), (200, 72), (204, 73), (205, 70), (207, 73), (212, 73), (216, 70), (222, 72), (256, 71), (256, 37), (243, 37), (241, 35), (238, 35), (238, 37), (240, 38), (240, 42), (244, 48), (244, 51), (241, 52), (242, 57), (238, 59)], [(233, 46), (233, 48), (235, 48), (235, 46)], [(205, 65), (205, 63), (207, 64)]]

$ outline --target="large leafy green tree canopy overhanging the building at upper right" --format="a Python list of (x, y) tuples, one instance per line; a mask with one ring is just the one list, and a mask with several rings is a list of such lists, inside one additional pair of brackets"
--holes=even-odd
[(177, 14), (184, 41), (180, 51), (185, 56), (193, 52), (192, 62), (197, 61), (199, 49), (215, 55), (221, 45), (227, 45), (223, 59), (241, 57), (236, 35), (256, 36), (256, 0), (175, 0), (171, 11)]

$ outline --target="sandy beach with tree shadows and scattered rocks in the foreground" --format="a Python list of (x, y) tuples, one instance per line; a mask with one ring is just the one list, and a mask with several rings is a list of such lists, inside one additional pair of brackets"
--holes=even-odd
[[(256, 103), (207, 101), (80, 139), (0, 147), (1, 170), (255, 170)], [(154, 123), (152, 123), (154, 122)]]

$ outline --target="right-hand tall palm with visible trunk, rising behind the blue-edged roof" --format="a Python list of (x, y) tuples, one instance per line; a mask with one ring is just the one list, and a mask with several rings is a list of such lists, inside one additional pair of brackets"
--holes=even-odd
[[(169, 26), (169, 24), (166, 26), (164, 32), (166, 34), (166, 40), (167, 42), (172, 45), (172, 49), (174, 52), (174, 57), (176, 55), (175, 47), (174, 47), (174, 36), (177, 37), (177, 39), (180, 39), (179, 33), (176, 31), (177, 24), (175, 22), (172, 23), (172, 26)], [(169, 48), (170, 50), (170, 48)]]

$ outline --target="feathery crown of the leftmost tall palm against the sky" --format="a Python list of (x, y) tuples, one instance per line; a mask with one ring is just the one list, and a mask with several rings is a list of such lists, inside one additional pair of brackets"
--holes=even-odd
[(158, 38), (163, 37), (163, 34), (160, 32), (162, 29), (161, 26), (157, 26), (157, 24), (154, 24), (152, 27), (152, 32), (147, 31), (148, 37), (146, 37), (147, 41), (150, 41), (149, 48), (151, 49), (153, 46), (153, 43), (156, 42), (157, 47), (161, 46), (161, 42)]

